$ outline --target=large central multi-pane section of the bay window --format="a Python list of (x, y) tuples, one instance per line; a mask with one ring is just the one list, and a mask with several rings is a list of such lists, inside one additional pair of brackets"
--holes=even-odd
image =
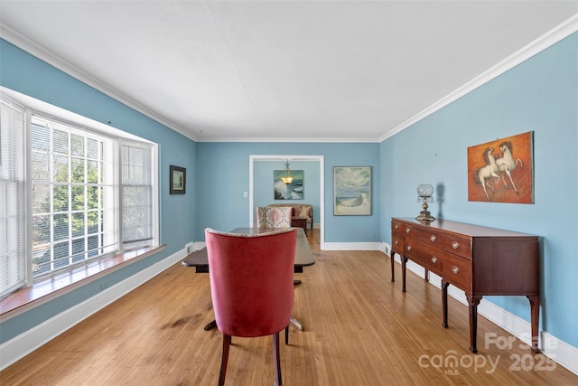
[(115, 141), (32, 117), (33, 276), (118, 249)]

